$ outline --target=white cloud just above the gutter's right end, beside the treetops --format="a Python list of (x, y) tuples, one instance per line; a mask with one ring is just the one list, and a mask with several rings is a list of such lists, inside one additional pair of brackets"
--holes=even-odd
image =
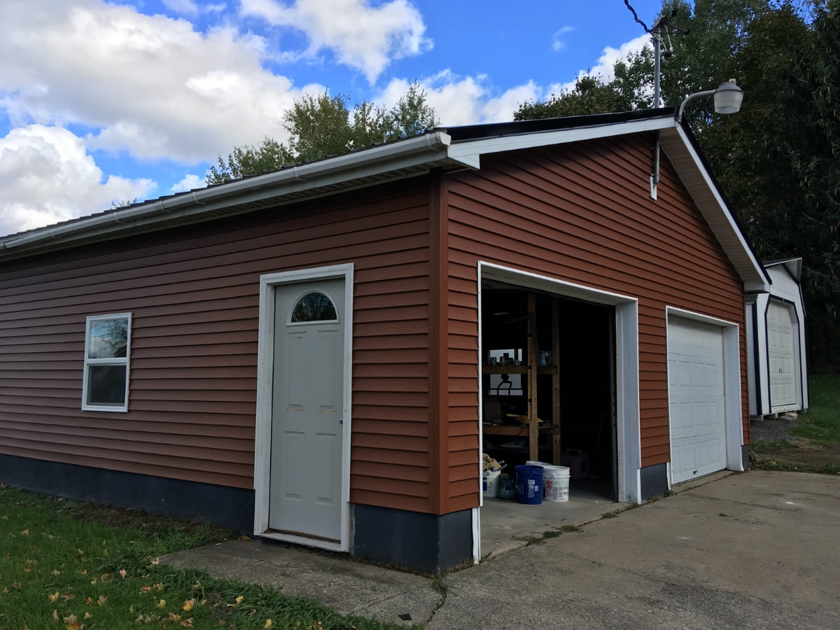
[[(375, 102), (390, 107), (408, 91), (409, 85), (407, 79), (392, 79)], [(420, 85), (442, 126), (513, 120), (520, 103), (538, 98), (541, 93), (533, 81), (528, 81), (494, 96), (485, 75), (458, 76), (449, 70), (421, 79)]]

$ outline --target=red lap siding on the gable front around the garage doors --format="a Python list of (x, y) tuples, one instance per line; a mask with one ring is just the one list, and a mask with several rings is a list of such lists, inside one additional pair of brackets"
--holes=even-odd
[[(485, 156), (448, 189), (450, 280), (467, 293), (485, 260), (638, 297), (643, 466), (669, 460), (665, 307), (738, 323), (744, 347), (743, 283), (667, 159), (649, 199), (650, 146), (637, 135)], [(477, 339), (477, 324), (465, 333)]]

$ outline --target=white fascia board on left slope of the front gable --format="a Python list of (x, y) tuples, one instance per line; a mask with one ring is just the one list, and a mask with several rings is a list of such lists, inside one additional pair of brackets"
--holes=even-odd
[(612, 123), (593, 125), (591, 127), (573, 127), (570, 129), (554, 129), (553, 131), (531, 132), (528, 134), (505, 135), (495, 138), (464, 140), (449, 146), (447, 155), (459, 162), (471, 163), (473, 168), (479, 168), (480, 156), (486, 153), (501, 153), (502, 151), (516, 151), (534, 149), (551, 144), (565, 144), (609, 138), (616, 135), (638, 134), (645, 131), (669, 129), (674, 126), (673, 116), (659, 118), (644, 118), (626, 123)]

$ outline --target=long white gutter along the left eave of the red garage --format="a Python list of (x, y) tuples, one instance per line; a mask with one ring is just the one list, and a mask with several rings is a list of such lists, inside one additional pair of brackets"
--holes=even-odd
[[(223, 186), (204, 188), (193, 191), (192, 194), (158, 199), (138, 207), (99, 214), (74, 223), (41, 228), (30, 234), (23, 234), (18, 238), (4, 240), (0, 245), (2, 245), (2, 249), (13, 249), (51, 239), (61, 239), (68, 243), (76, 238), (81, 239), (87, 235), (97, 234), (97, 232), (113, 231), (116, 227), (115, 224), (119, 223), (135, 225), (153, 223), (154, 218), (161, 215), (187, 216), (191, 214), (190, 209), (193, 210), (192, 213), (201, 213), (209, 209), (210, 206), (228, 205), (227, 200), (230, 197), (247, 195), (249, 197), (248, 201), (254, 202), (258, 199), (283, 194), (283, 192), (277, 190), (281, 187), (291, 187), (295, 191), (300, 191), (323, 186), (324, 180), (336, 183), (350, 179), (347, 171), (353, 171), (352, 176), (370, 176), (393, 170), (395, 162), (401, 163), (403, 166), (423, 164), (434, 159), (447, 157), (446, 150), (451, 141), (449, 134), (440, 131), (433, 134), (423, 134), (358, 153), (339, 155), (328, 160), (320, 160), (275, 173), (233, 181)], [(223, 202), (223, 200), (225, 201)]]

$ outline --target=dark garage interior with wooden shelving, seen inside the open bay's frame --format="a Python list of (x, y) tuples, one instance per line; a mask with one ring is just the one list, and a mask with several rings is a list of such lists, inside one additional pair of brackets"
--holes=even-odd
[(492, 281), (482, 307), (484, 452), (511, 472), (568, 466), (572, 496), (617, 500), (615, 308)]

